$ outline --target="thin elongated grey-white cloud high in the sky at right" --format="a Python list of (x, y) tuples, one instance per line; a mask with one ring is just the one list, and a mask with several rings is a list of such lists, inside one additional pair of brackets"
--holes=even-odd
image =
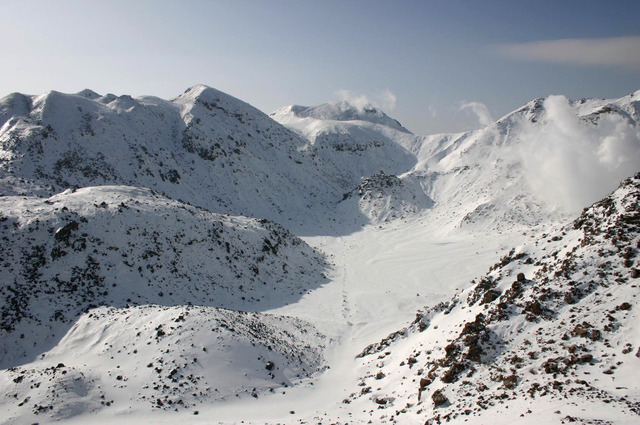
[(505, 44), (498, 54), (529, 62), (621, 66), (640, 71), (640, 36)]

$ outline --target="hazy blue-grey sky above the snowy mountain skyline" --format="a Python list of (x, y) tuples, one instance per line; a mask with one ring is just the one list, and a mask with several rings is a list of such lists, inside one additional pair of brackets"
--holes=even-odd
[(269, 113), (345, 98), (418, 134), (640, 89), (640, 1), (6, 1), (0, 96), (207, 84)]

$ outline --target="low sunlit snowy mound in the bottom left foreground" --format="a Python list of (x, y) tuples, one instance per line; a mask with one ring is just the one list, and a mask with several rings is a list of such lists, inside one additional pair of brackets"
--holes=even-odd
[[(325, 339), (290, 317), (213, 307), (100, 307), (0, 373), (3, 423), (186, 412), (282, 393), (324, 368)], [(148, 416), (147, 416), (148, 418)]]

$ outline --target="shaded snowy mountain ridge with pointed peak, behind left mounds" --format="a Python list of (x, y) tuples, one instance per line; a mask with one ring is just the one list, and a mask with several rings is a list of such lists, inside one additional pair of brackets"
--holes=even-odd
[(289, 224), (317, 220), (344, 192), (304, 152), (304, 140), (206, 86), (172, 101), (90, 91), (12, 94), (0, 101), (0, 117), (5, 195), (141, 186), (212, 211)]

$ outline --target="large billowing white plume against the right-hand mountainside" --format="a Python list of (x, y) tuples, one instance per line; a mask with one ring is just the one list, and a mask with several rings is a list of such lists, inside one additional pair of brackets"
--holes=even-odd
[(523, 128), (529, 143), (520, 153), (526, 178), (541, 199), (578, 212), (638, 169), (640, 133), (631, 118), (601, 113), (590, 125), (564, 96), (549, 96), (544, 109), (542, 126)]

